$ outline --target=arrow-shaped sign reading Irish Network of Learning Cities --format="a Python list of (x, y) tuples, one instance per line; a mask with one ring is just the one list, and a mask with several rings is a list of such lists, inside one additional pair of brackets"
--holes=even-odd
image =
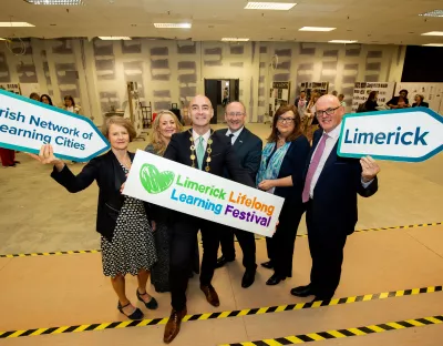
[(110, 149), (90, 119), (0, 90), (0, 146), (38, 154), (47, 143), (71, 161), (89, 161)]

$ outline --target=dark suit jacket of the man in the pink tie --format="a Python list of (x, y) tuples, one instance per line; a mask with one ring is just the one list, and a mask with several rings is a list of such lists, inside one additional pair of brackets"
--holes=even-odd
[[(308, 172), (312, 153), (322, 135), (322, 130), (313, 134), (312, 149), (305, 170)], [(368, 187), (361, 183), (360, 160), (340, 157), (337, 145), (327, 159), (313, 190), (312, 217), (317, 228), (324, 232), (352, 234), (358, 221), (357, 194), (369, 197), (378, 191), (377, 176)]]

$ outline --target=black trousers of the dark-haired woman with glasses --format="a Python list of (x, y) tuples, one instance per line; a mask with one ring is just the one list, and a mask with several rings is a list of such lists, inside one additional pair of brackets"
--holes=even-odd
[(268, 257), (272, 261), (275, 273), (281, 277), (292, 277), (293, 246), (303, 212), (302, 205), (285, 202), (276, 233), (266, 238)]

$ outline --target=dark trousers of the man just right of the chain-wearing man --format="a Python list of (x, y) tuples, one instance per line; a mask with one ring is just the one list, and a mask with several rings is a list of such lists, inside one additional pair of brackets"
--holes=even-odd
[(256, 264), (256, 238), (254, 233), (222, 226), (220, 228), (220, 245), (222, 254), (227, 260), (235, 258), (234, 234), (237, 237), (243, 251), (243, 265), (246, 269), (255, 271)]

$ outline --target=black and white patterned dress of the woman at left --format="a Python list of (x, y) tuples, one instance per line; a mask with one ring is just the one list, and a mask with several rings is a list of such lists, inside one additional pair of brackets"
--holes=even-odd
[[(128, 173), (125, 166), (122, 169)], [(142, 201), (125, 196), (112, 242), (102, 236), (102, 262), (103, 274), (111, 277), (137, 275), (157, 262), (154, 234)]]

